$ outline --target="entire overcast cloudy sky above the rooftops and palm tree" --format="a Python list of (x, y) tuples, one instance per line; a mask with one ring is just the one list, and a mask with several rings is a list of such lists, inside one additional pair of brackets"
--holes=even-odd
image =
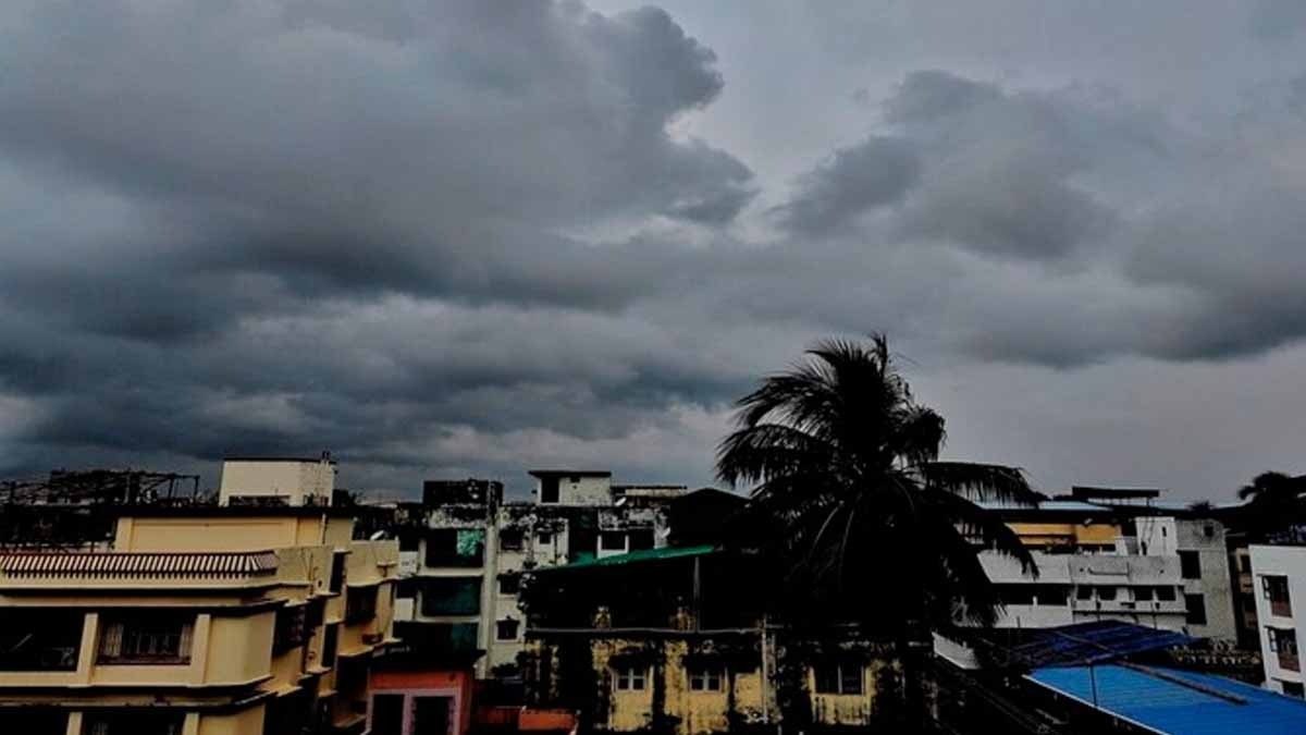
[(1306, 3), (0, 5), (0, 475), (712, 481), (889, 335), (955, 459), (1306, 471)]

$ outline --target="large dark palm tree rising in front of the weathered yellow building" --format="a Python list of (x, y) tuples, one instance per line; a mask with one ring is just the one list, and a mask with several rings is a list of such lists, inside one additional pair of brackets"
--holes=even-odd
[(750, 510), (780, 531), (771, 551), (789, 613), (892, 634), (918, 706), (910, 659), (929, 630), (991, 624), (1000, 609), (977, 548), (1037, 574), (1016, 534), (973, 501), (1041, 496), (1019, 470), (938, 460), (943, 417), (916, 403), (883, 335), (821, 341), (807, 356), (738, 402), (717, 473), (751, 485)]

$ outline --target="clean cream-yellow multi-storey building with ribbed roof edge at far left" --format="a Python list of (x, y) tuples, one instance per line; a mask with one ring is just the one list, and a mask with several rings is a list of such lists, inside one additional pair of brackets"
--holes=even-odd
[(394, 541), (324, 507), (129, 509), (107, 553), (0, 555), (0, 732), (363, 732)]

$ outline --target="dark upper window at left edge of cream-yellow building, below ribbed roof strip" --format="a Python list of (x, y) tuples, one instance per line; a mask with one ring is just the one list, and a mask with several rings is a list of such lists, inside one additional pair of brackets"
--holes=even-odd
[(0, 608), (0, 671), (76, 671), (84, 617), (80, 611)]

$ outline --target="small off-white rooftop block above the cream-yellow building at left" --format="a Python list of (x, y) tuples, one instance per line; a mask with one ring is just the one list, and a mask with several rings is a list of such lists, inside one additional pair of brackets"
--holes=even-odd
[(319, 458), (229, 458), (222, 462), (221, 505), (332, 504), (336, 463), (329, 453)]

